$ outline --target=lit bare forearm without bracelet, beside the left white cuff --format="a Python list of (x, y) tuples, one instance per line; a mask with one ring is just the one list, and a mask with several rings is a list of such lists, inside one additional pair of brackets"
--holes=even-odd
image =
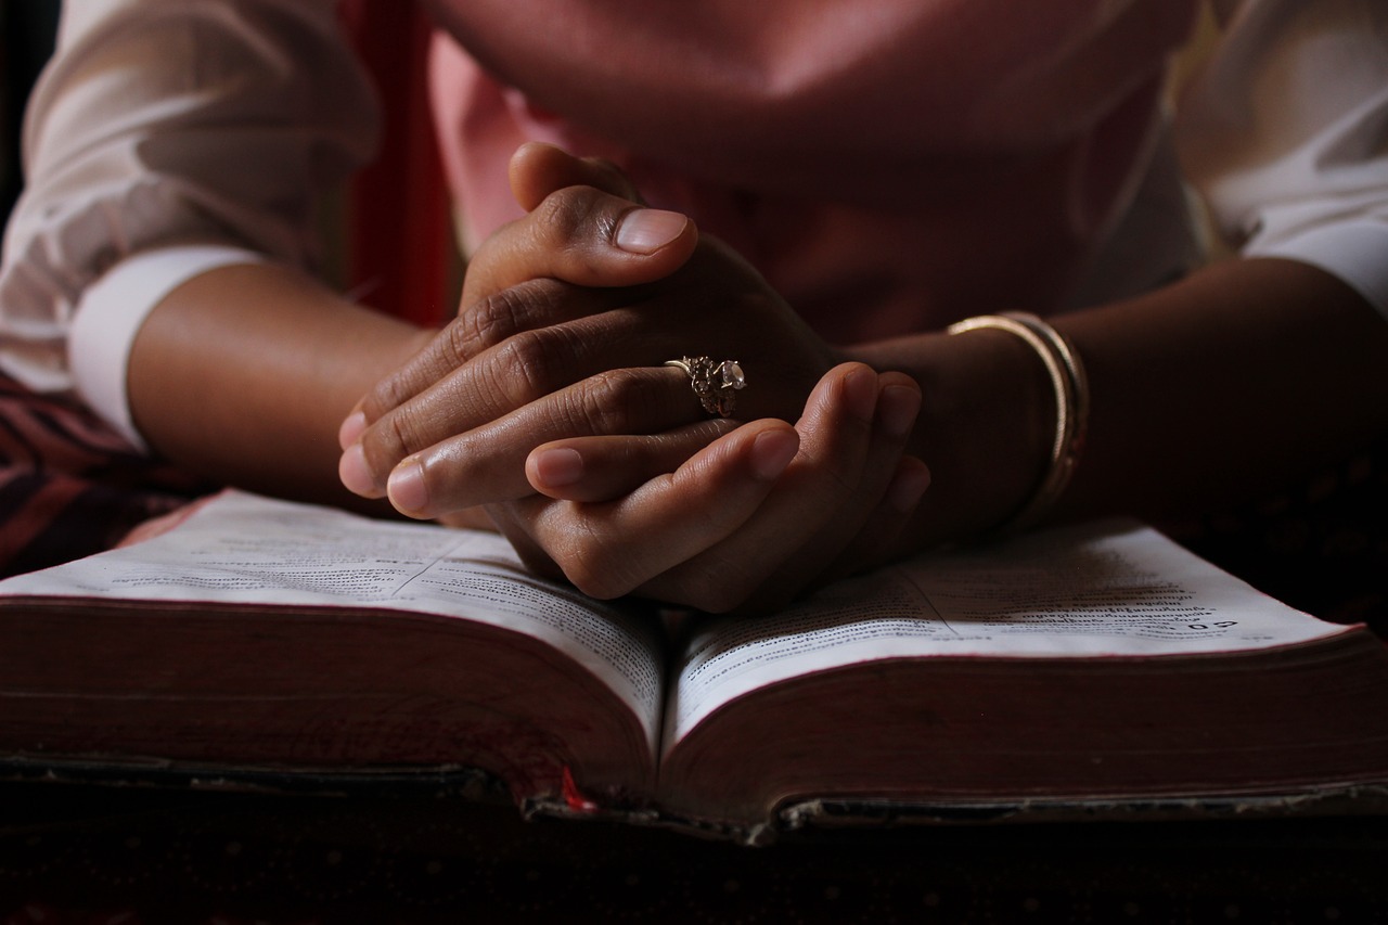
[(130, 350), (130, 410), (150, 446), (192, 471), (347, 503), (337, 428), (426, 339), (297, 271), (225, 267), (175, 289), (144, 321)]

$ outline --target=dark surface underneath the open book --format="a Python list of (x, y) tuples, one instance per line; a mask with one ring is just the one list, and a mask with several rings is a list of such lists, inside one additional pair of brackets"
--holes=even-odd
[(1388, 817), (937, 825), (750, 849), (465, 800), (0, 785), (0, 921), (461, 917), (1388, 921)]

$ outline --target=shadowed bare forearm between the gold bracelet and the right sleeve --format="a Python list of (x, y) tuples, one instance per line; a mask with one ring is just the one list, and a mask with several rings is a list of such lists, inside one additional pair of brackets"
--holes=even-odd
[(1305, 264), (1217, 264), (1056, 324), (1085, 357), (1095, 403), (1067, 514), (1256, 499), (1388, 428), (1388, 322)]

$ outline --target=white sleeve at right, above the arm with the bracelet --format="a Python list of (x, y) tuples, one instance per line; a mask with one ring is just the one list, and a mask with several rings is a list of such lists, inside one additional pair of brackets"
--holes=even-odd
[(1244, 0), (1177, 139), (1246, 256), (1321, 267), (1388, 317), (1388, 3)]

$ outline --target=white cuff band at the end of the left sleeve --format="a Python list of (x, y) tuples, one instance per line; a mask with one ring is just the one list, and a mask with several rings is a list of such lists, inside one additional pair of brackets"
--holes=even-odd
[(149, 446), (135, 428), (126, 374), (135, 336), (154, 306), (185, 282), (236, 264), (266, 258), (242, 247), (186, 244), (135, 254), (87, 286), (68, 333), (68, 368), (78, 394), (140, 451)]

